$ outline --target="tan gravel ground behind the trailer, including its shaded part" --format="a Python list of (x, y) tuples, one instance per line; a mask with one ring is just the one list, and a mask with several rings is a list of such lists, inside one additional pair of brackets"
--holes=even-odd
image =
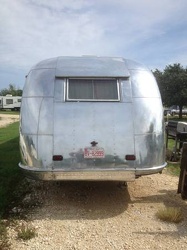
[[(37, 201), (25, 223), (37, 237), (23, 241), (9, 228), (11, 249), (187, 249), (187, 203), (177, 194), (178, 178), (141, 177), (128, 187), (116, 182), (37, 182), (25, 202)], [(181, 223), (162, 222), (155, 213), (180, 207)]]

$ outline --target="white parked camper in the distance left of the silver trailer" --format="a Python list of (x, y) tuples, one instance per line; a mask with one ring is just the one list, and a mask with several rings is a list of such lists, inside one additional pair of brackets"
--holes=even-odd
[(20, 110), (21, 96), (0, 96), (0, 109)]

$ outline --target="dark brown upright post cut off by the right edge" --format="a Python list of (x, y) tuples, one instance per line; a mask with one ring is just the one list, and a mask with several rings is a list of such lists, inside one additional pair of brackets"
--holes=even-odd
[(182, 199), (187, 199), (187, 142), (184, 142), (182, 147), (180, 176), (177, 193), (181, 193)]

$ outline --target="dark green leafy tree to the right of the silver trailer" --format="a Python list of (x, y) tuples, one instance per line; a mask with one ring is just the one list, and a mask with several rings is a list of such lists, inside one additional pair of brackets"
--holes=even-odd
[(179, 118), (182, 118), (182, 109), (187, 105), (187, 69), (178, 63), (166, 66), (163, 72), (155, 70), (153, 74), (164, 105), (179, 106)]

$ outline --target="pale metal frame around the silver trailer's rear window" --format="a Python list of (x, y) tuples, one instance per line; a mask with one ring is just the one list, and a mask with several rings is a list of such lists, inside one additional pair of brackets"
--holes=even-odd
[[(116, 99), (71, 99), (69, 98), (69, 79), (75, 79), (75, 80), (116, 80), (116, 86), (117, 86), (117, 98)], [(119, 79), (114, 77), (69, 77), (66, 79), (66, 101), (68, 102), (120, 102), (120, 84)]]

